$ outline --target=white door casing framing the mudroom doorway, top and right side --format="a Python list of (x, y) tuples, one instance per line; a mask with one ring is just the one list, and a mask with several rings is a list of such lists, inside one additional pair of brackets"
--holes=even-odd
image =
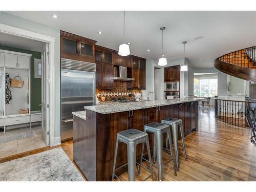
[(60, 144), (59, 139), (55, 139), (55, 38), (24, 29), (0, 24), (0, 32), (12, 34), (24, 38), (39, 40), (49, 44), (49, 135), (50, 146)]

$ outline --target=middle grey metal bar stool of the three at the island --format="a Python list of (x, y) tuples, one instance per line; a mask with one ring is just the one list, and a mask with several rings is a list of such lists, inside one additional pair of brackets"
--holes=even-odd
[[(154, 161), (157, 159), (157, 164), (158, 164), (158, 181), (162, 181), (162, 148), (163, 148), (163, 133), (167, 134), (167, 139), (170, 141), (169, 143), (172, 143), (172, 137), (170, 137), (170, 126), (158, 122), (154, 123), (149, 123), (144, 125), (144, 132), (146, 133), (153, 133), (154, 134), (154, 148), (153, 148), (153, 158)], [(143, 158), (143, 151), (144, 151), (144, 144), (142, 144), (142, 150), (141, 150), (141, 156), (140, 156), (140, 164), (142, 163)], [(147, 150), (147, 152), (149, 152)], [(150, 156), (150, 153), (148, 153)], [(176, 174), (176, 169), (175, 169), (175, 164), (174, 164), (174, 158), (173, 158), (173, 150), (172, 146), (170, 145), (170, 161), (173, 161), (173, 167), (174, 167), (174, 175), (177, 176)], [(146, 159), (144, 159), (146, 160)], [(146, 160), (147, 161), (147, 160)], [(167, 162), (167, 163), (168, 163)], [(165, 163), (166, 164), (166, 163)], [(140, 166), (138, 170), (138, 174), (140, 173)]]

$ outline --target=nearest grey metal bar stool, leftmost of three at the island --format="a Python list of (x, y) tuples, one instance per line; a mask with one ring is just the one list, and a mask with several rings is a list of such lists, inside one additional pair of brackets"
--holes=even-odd
[[(129, 181), (135, 181), (135, 167), (136, 167), (136, 163), (137, 163), (136, 162), (136, 146), (139, 143), (142, 143), (142, 145), (144, 146), (144, 143), (146, 143), (147, 151), (150, 152), (150, 143), (148, 142), (148, 135), (146, 133), (136, 130), (136, 129), (125, 130), (125, 131), (117, 133), (113, 172), (112, 172), (112, 181), (114, 180), (114, 176), (117, 177), (119, 180), (121, 180), (118, 176), (115, 175), (116, 157), (117, 157), (119, 142), (123, 142), (127, 145), (127, 163), (118, 168), (121, 168), (128, 164)], [(149, 158), (149, 163), (150, 163), (150, 169), (147, 169), (144, 166), (143, 166), (143, 168), (147, 169), (151, 173), (151, 176), (153, 177), (151, 155), (149, 155), (148, 158)], [(139, 163), (137, 163), (137, 164), (139, 164)], [(147, 177), (146, 179), (150, 178), (151, 176)]]

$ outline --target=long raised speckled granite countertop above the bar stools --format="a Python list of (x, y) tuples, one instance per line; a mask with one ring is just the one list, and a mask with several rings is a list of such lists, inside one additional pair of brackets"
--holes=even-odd
[(140, 110), (146, 108), (153, 108), (154, 106), (164, 106), (170, 104), (178, 104), (190, 101), (203, 100), (205, 98), (198, 97), (186, 97), (177, 99), (164, 99), (164, 100), (152, 100), (152, 101), (137, 101), (127, 103), (109, 103), (103, 105), (84, 106), (84, 109), (94, 111), (101, 114), (118, 113), (124, 111)]

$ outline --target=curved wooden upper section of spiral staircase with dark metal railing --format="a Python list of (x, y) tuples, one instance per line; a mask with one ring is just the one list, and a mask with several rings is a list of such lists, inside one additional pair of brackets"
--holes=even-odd
[(215, 59), (214, 66), (228, 75), (256, 82), (256, 46), (225, 54)]

